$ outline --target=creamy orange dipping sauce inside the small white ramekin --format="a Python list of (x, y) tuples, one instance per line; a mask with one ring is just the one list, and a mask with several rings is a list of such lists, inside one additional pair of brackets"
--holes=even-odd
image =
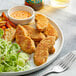
[(11, 13), (10, 16), (15, 19), (25, 19), (25, 18), (29, 18), (31, 16), (31, 13), (24, 10), (20, 10), (20, 11), (15, 11)]

